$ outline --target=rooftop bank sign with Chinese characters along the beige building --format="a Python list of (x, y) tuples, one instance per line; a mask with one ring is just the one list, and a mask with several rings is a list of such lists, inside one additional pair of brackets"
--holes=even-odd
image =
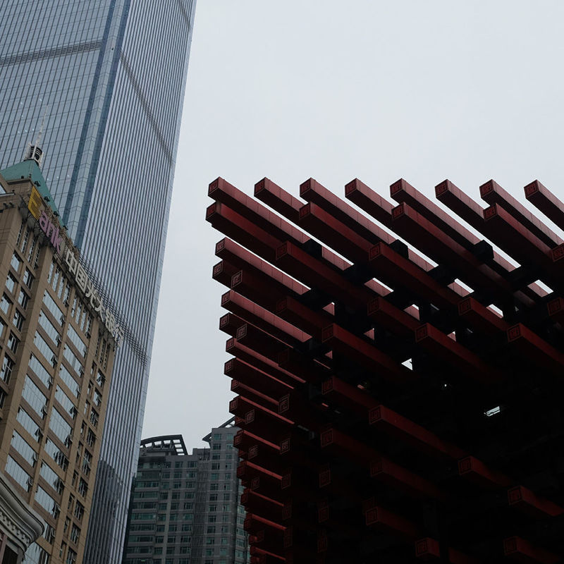
[(109, 307), (104, 306), (102, 298), (94, 288), (94, 284), (90, 280), (86, 270), (80, 264), (80, 261), (75, 256), (75, 249), (68, 244), (66, 237), (60, 231), (59, 226), (49, 219), (47, 212), (43, 208), (43, 200), (36, 188), (32, 188), (30, 201), (27, 204), (27, 209), (30, 210), (32, 216), (39, 222), (39, 227), (51, 243), (51, 247), (56, 250), (57, 255), (64, 259), (68, 266), (68, 271), (73, 276), (75, 286), (80, 289), (84, 294), (86, 300), (90, 300), (90, 305), (94, 312), (96, 312), (106, 329), (114, 336), (116, 345), (121, 345), (124, 337), (123, 329), (116, 321), (116, 317), (110, 311)]

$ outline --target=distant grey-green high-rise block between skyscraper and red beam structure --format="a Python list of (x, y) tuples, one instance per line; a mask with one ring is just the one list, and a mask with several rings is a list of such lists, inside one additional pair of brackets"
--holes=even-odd
[(244, 564), (233, 419), (188, 454), (182, 436), (141, 443), (123, 564)]

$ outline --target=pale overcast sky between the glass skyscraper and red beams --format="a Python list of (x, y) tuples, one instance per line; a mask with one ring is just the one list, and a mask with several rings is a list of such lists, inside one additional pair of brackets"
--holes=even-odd
[[(201, 446), (228, 417), (217, 176), (388, 197), (494, 178), (563, 195), (562, 0), (198, 0), (143, 436)], [(389, 198), (388, 198), (389, 199)]]

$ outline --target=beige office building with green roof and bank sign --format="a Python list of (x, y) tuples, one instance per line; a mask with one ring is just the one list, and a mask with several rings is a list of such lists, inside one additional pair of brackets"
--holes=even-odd
[(121, 331), (38, 162), (0, 185), (0, 563), (80, 563)]

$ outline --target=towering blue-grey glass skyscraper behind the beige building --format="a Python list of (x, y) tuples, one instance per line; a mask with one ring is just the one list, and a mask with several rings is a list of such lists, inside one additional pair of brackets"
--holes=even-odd
[(121, 560), (136, 470), (195, 0), (4, 0), (0, 169), (44, 123), (43, 174), (125, 339), (85, 563)]

